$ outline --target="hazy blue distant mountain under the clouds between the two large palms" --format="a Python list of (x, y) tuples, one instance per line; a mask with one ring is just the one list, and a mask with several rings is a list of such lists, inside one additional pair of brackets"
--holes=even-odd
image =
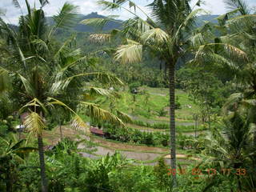
[[(88, 19), (88, 18), (106, 18), (106, 16), (100, 15), (97, 12), (92, 12), (91, 14), (87, 14), (87, 15), (80, 14), (78, 21), (81, 22), (82, 20)], [(116, 21), (117, 22), (108, 22), (106, 26), (103, 27), (103, 30), (108, 31), (108, 30), (114, 30), (119, 28), (121, 26), (121, 24), (118, 23), (120, 22), (120, 20), (116, 20)], [(54, 19), (51, 17), (47, 18), (47, 22), (49, 25), (54, 25)], [(86, 26), (81, 24), (74, 26), (73, 30), (76, 30), (78, 32), (90, 32), (90, 33), (96, 31), (95, 28), (92, 26)]]

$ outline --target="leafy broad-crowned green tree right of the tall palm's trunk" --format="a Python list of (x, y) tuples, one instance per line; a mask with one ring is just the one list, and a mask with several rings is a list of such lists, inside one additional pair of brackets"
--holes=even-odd
[(202, 68), (182, 68), (177, 73), (179, 84), (200, 107), (202, 122), (210, 125), (211, 116), (219, 114), (225, 99), (232, 93), (229, 83), (222, 83), (213, 73)]

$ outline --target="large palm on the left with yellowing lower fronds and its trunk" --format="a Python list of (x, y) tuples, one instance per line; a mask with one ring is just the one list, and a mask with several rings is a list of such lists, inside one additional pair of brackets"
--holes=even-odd
[[(20, 7), (18, 1), (14, 2), (15, 6)], [(94, 118), (112, 122), (118, 126), (124, 126), (124, 124), (122, 117), (118, 118), (94, 103), (82, 99), (81, 87), (84, 84), (80, 84), (90, 76), (96, 76), (103, 83), (120, 85), (122, 82), (112, 74), (86, 73), (84, 66), (89, 58), (83, 56), (79, 49), (74, 50), (70, 46), (74, 38), (68, 39), (58, 49), (54, 45), (52, 37), (55, 31), (58, 28), (72, 26), (76, 21), (77, 7), (65, 3), (62, 10), (54, 16), (54, 26), (47, 30), (43, 8), (48, 1), (41, 0), (40, 3), (39, 9), (32, 9), (26, 1), (28, 14), (21, 16), (18, 31), (11, 29), (0, 18), (1, 37), (6, 40), (7, 49), (11, 53), (10, 57), (6, 58), (6, 62), (1, 64), (0, 87), (8, 85), (5, 90), (9, 90), (18, 98), (17, 105), (21, 106), (20, 112), (30, 113), (25, 124), (30, 135), (34, 134), (38, 138), (42, 191), (45, 192), (47, 180), (42, 131), (46, 127), (44, 118), (47, 114), (51, 114), (55, 106), (62, 106), (73, 114), (75, 127), (86, 127), (75, 111), (78, 104)], [(98, 95), (110, 94), (110, 91), (97, 87), (89, 89)], [(72, 103), (74, 106), (71, 105)]]

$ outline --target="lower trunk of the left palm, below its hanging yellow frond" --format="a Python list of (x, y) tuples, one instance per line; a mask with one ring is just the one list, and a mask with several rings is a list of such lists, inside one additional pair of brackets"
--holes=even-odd
[(47, 179), (46, 179), (46, 166), (44, 159), (44, 151), (42, 144), (42, 135), (38, 134), (38, 154), (40, 161), (40, 174), (41, 174), (41, 182), (42, 182), (42, 192), (47, 192)]

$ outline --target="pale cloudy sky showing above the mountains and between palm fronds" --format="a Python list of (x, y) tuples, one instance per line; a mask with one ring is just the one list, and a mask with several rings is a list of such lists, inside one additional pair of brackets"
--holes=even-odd
[[(20, 2), (20, 5), (22, 6), (22, 10), (26, 13), (26, 6), (25, 6), (25, 0), (18, 0)], [(141, 6), (143, 10), (146, 11), (146, 13), (149, 14), (149, 11), (146, 10), (145, 6), (151, 2), (152, 0), (134, 0), (138, 4), (138, 6)], [(198, 0), (192, 1), (192, 6), (195, 2)], [(38, 6), (38, 0), (29, 0), (31, 3), (30, 5)], [(50, 16), (53, 14), (56, 14), (60, 7), (63, 6), (64, 2), (66, 0), (50, 0), (50, 5), (47, 5), (45, 7), (46, 15)], [(108, 13), (106, 11), (102, 11), (102, 8), (97, 5), (97, 0), (69, 0), (68, 2), (73, 3), (74, 5), (79, 6), (79, 12), (80, 14), (90, 14), (91, 12), (98, 12), (98, 14), (108, 15), (108, 14), (118, 14), (120, 15), (120, 19), (126, 19), (130, 18), (130, 15), (126, 13), (126, 11), (118, 11), (115, 13)], [(205, 5), (202, 6), (205, 10), (209, 11), (210, 14), (224, 14), (226, 12), (225, 5), (223, 3), (223, 0), (204, 0)], [(248, 4), (250, 6), (256, 6), (256, 0), (247, 0)], [(127, 5), (128, 8), (128, 5)], [(14, 8), (12, 4), (12, 0), (0, 0), (0, 9), (6, 11), (6, 17), (5, 20), (9, 21), (10, 23), (17, 24), (18, 22), (18, 15), (21, 14), (21, 11), (17, 8)], [(142, 15), (141, 15), (142, 16)]]

